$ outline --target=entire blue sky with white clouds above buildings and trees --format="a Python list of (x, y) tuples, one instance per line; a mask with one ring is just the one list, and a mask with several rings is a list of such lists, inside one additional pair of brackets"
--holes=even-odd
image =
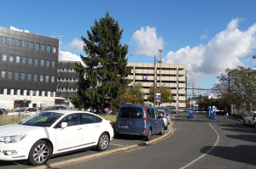
[[(124, 30), (131, 62), (186, 64), (189, 87), (211, 88), (220, 73), (256, 63), (255, 0), (9, 0), (0, 26), (61, 40), (60, 58), (79, 59), (86, 31), (108, 11)], [(132, 56), (131, 56), (132, 55)]]

